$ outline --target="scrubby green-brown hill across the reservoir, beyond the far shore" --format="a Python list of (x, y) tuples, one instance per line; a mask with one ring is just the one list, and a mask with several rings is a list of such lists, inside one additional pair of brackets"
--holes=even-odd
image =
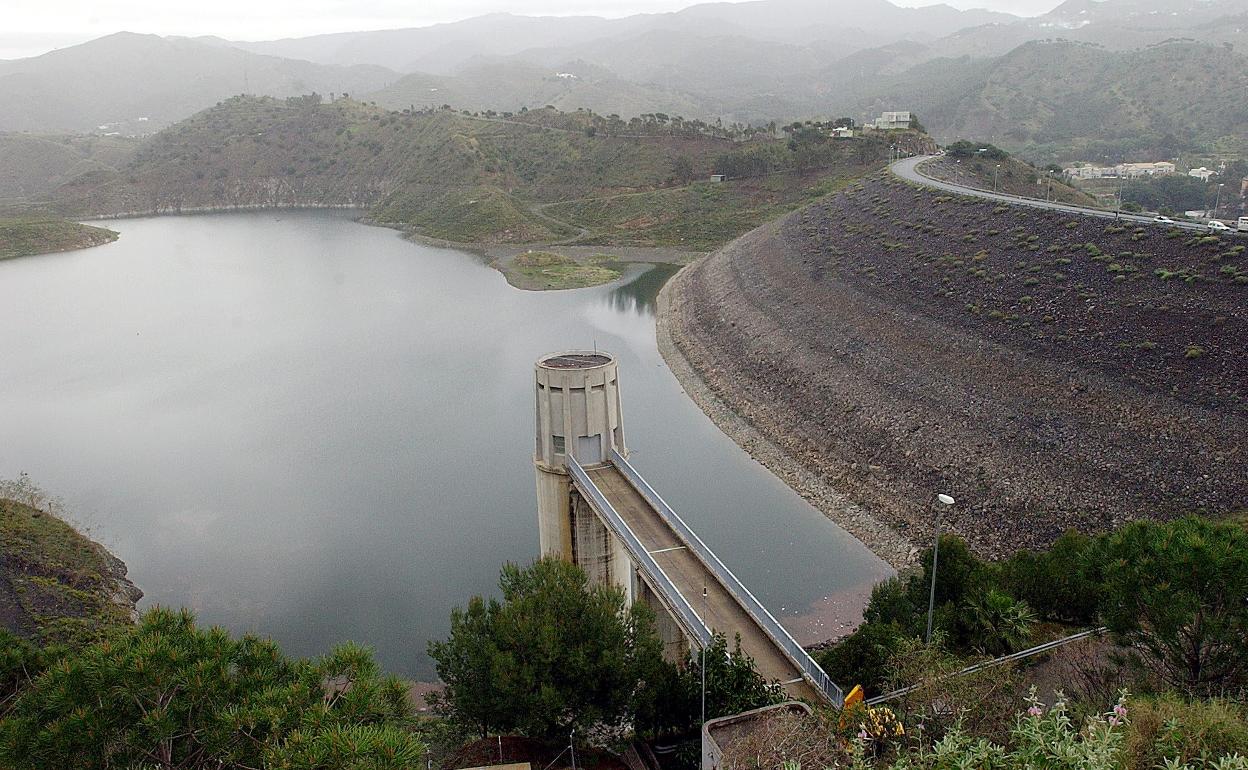
[[(96, 213), (349, 205), (458, 242), (583, 237), (693, 248), (724, 243), (886, 154), (884, 140), (743, 147), (708, 135), (710, 126), (617, 122), (643, 132), (613, 135), (617, 124), (590, 112), (504, 119), (235, 97), (151, 137), (124, 168), (62, 186), (56, 198), (65, 211)], [(713, 191), (688, 186), (746, 156), (759, 161), (753, 172), (774, 176)], [(633, 205), (651, 221), (620, 222), (623, 208), (602, 210), (602, 198), (630, 193), (644, 193)], [(549, 206), (564, 201), (585, 203)]]

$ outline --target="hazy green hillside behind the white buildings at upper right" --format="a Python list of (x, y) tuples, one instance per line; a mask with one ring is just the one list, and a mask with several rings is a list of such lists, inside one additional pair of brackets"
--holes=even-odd
[(1030, 157), (1246, 152), (1248, 57), (1169, 42), (1109, 51), (1028, 42), (996, 59), (937, 60), (875, 82), (866, 109), (905, 104), (942, 140), (975, 136)]

